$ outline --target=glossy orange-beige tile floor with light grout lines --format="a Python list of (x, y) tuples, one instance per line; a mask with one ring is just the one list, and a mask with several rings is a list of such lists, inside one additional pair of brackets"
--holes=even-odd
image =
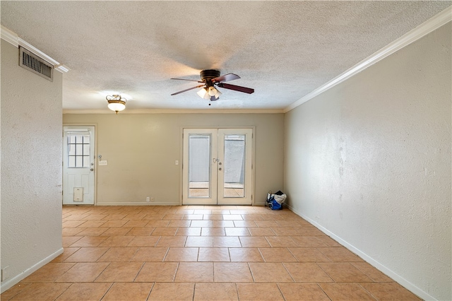
[(1, 300), (419, 300), (288, 209), (64, 206), (63, 245)]

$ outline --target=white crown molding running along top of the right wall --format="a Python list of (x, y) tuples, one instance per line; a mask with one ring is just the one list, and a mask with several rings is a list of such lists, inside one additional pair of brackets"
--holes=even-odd
[(319, 88), (313, 90), (311, 93), (293, 102), (292, 105), (286, 107), (283, 112), (287, 113), (290, 110), (295, 109), (295, 107), (302, 105), (304, 102), (315, 98), (317, 95), (320, 95), (326, 90), (333, 88), (335, 85), (338, 85), (339, 83), (346, 81), (348, 78), (355, 76), (357, 73), (363, 71), (364, 69), (367, 69), (369, 66), (375, 64), (376, 62), (381, 61), (381, 59), (384, 59), (385, 57), (388, 57), (389, 55), (397, 52), (403, 47), (410, 45), (412, 42), (419, 40), (421, 37), (424, 37), (424, 35), (432, 33), (432, 31), (440, 28), (443, 25), (446, 25), (447, 23), (451, 22), (451, 20), (452, 6), (449, 6), (444, 11), (441, 11), (441, 13), (438, 13), (432, 18), (429, 18), (429, 20), (425, 21), (413, 30), (410, 30), (408, 33), (405, 33), (405, 35), (399, 37), (397, 40), (391, 42), (386, 47), (383, 47), (379, 51), (375, 52), (370, 57), (367, 57), (367, 59), (360, 61), (358, 64), (352, 66), (352, 68), (348, 69), (344, 73), (341, 73), (339, 76), (336, 76), (331, 81), (328, 81), (327, 83), (321, 85)]

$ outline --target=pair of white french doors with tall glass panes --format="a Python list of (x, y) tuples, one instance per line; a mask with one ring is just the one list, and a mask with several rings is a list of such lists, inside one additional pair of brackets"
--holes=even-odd
[(251, 205), (253, 129), (184, 129), (182, 203)]

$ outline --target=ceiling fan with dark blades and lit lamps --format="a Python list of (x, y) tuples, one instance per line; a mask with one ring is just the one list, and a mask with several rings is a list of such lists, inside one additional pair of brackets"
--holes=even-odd
[[(234, 79), (240, 78), (240, 76), (238, 76), (237, 74), (227, 73), (223, 76), (220, 76), (220, 71), (209, 69), (209, 70), (201, 71), (200, 75), (201, 75), (201, 81), (196, 81), (196, 82), (202, 83), (202, 85), (196, 85), (194, 87), (191, 87), (191, 88), (188, 88), (188, 89), (176, 92), (176, 93), (172, 93), (172, 95), (177, 95), (177, 94), (189, 91), (189, 90), (203, 87), (201, 90), (198, 91), (198, 95), (201, 98), (204, 98), (204, 99), (207, 99), (210, 101), (215, 101), (215, 100), (218, 100), (218, 98), (220, 98), (220, 95), (222, 94), (222, 93), (220, 93), (220, 91), (217, 88), (215, 88), (215, 86), (220, 87), (220, 88), (229, 89), (229, 90), (239, 91), (239, 92), (243, 92), (243, 93), (248, 93), (248, 94), (254, 93), (254, 89), (242, 87), (240, 85), (231, 85), (230, 83), (225, 83), (226, 81), (233, 81)], [(184, 78), (171, 78), (171, 79), (176, 79), (179, 81), (194, 81), (192, 79), (184, 79)]]

